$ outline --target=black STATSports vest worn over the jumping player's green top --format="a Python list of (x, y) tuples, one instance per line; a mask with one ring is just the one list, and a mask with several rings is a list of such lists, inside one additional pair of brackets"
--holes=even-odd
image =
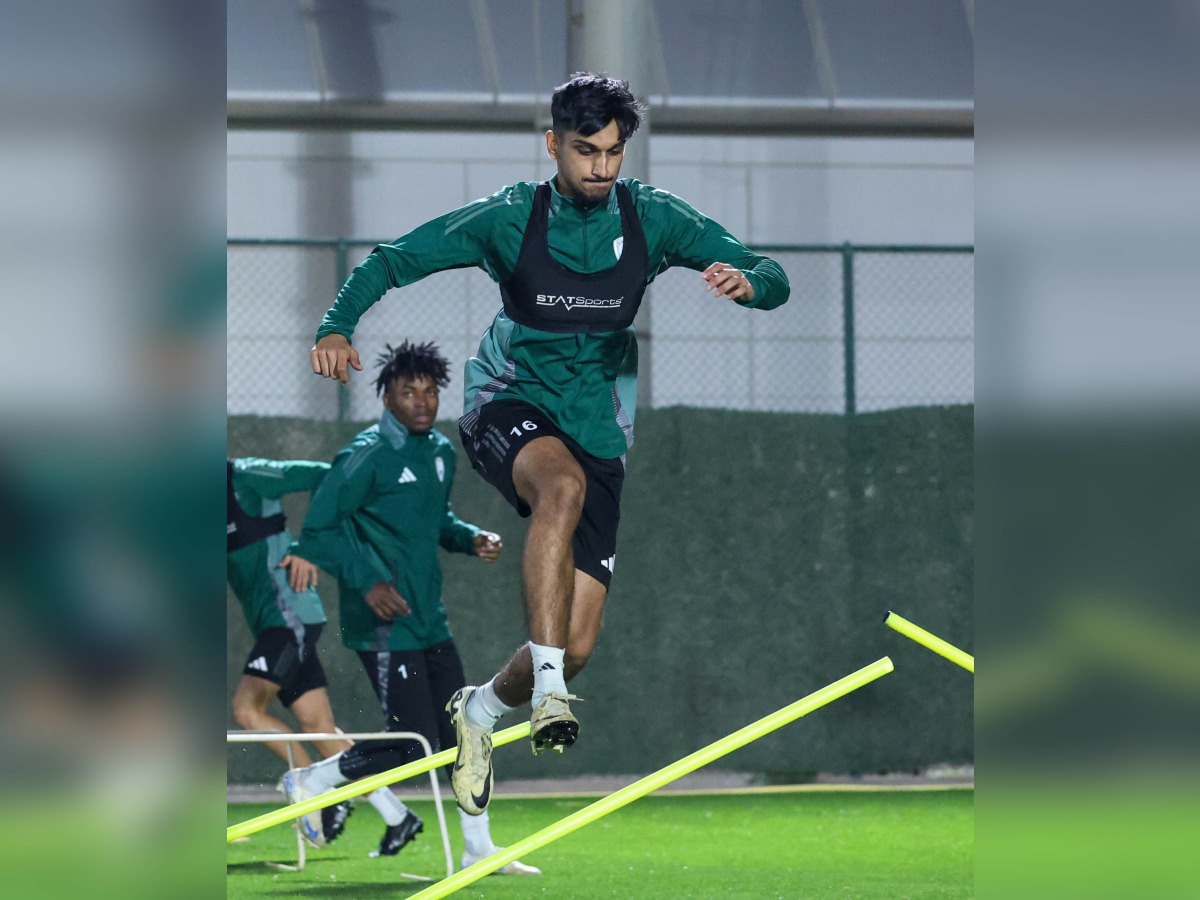
[(586, 275), (571, 271), (550, 254), (550, 184), (538, 185), (516, 266), (500, 284), (504, 312), (510, 319), (558, 334), (620, 331), (634, 323), (646, 293), (646, 235), (629, 188), (619, 181), (616, 188), (624, 240), (620, 258), (612, 269)]

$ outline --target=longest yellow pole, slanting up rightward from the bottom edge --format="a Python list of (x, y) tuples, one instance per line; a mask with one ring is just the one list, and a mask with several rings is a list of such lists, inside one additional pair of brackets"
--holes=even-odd
[(781, 728), (788, 722), (796, 721), (802, 715), (808, 715), (814, 709), (820, 709), (826, 703), (830, 703), (838, 700), (838, 697), (842, 697), (851, 691), (862, 688), (864, 684), (869, 684), (876, 678), (886, 676), (890, 671), (890, 659), (884, 656), (881, 660), (876, 660), (865, 668), (860, 668), (857, 672), (834, 682), (833, 684), (826, 685), (821, 690), (814, 691), (809, 696), (745, 726), (740, 731), (727, 734), (702, 750), (697, 750), (691, 756), (685, 756), (678, 762), (673, 762), (666, 768), (659, 769), (654, 774), (647, 775), (640, 781), (635, 781), (634, 784), (608, 794), (604, 799), (596, 800), (590, 806), (584, 806), (565, 818), (560, 818), (558, 822), (542, 828), (536, 834), (532, 834), (528, 838), (518, 840), (516, 844), (493, 853), (486, 859), (480, 859), (474, 865), (455, 872), (449, 878), (439, 881), (437, 884), (431, 884), (425, 888), (425, 890), (413, 894), (409, 900), (437, 900), (437, 898), (448, 896), (460, 888), (464, 888), (468, 884), (479, 881), (485, 875), (490, 875), (497, 869), (508, 865), (514, 859), (517, 859), (530, 851), (538, 850), (539, 847), (544, 847), (586, 824), (590, 824), (601, 816), (607, 816), (610, 812), (632, 803), (640, 797), (644, 797), (652, 791), (656, 791), (664, 785), (668, 785), (672, 781), (683, 778), (689, 772), (695, 772), (700, 767), (713, 762), (713, 760), (719, 760), (726, 754), (737, 750), (739, 746), (745, 746), (746, 744)]

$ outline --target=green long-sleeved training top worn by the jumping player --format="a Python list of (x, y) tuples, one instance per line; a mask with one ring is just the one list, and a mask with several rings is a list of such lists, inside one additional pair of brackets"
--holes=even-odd
[[(622, 179), (646, 234), (647, 283), (671, 266), (703, 271), (728, 263), (746, 275), (755, 298), (745, 306), (773, 310), (787, 301), (787, 275), (774, 259), (752, 253), (713, 220), (667, 191)], [(478, 266), (502, 283), (512, 274), (538, 182), (503, 187), (491, 197), (380, 244), (350, 274), (317, 330), (350, 340), (359, 318), (390, 288), (445, 269)], [(584, 274), (611, 269), (622, 246), (616, 191), (583, 204), (558, 193), (551, 180), (547, 240), (551, 256)], [(491, 400), (523, 400), (545, 410), (593, 456), (623, 456), (634, 443), (637, 396), (634, 328), (600, 334), (551, 334), (512, 322), (502, 310), (467, 362), (464, 413)]]

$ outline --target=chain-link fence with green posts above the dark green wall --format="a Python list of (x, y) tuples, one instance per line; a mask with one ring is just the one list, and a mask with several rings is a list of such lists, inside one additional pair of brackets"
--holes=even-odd
[[(462, 366), (500, 308), (484, 272), (439, 272), (392, 292), (361, 319), (366, 371), (349, 388), (308, 366), (317, 324), (373, 244), (228, 242), (230, 415), (366, 421), (378, 415), (374, 360), (385, 343), (434, 341), (451, 361), (444, 419)], [(640, 404), (856, 413), (974, 401), (974, 256), (964, 246), (770, 246), (792, 295), (770, 312), (704, 292), (672, 269), (638, 316)]]

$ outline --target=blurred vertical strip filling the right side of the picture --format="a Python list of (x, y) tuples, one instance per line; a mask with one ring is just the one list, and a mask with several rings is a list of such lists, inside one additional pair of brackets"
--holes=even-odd
[(977, 895), (1193, 896), (1200, 7), (977, 55)]

